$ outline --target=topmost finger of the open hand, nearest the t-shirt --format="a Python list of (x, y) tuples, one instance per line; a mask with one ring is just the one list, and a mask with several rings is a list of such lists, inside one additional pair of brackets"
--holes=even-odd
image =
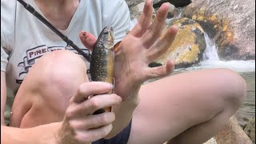
[(138, 20), (138, 24), (134, 26), (133, 30), (130, 31), (130, 34), (134, 37), (140, 38), (142, 34), (150, 27), (150, 22), (153, 13), (153, 2), (152, 0), (146, 0), (143, 13)]

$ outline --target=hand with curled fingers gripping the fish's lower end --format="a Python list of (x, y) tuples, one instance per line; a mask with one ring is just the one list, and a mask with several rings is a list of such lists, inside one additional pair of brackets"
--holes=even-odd
[(110, 133), (115, 114), (92, 114), (96, 110), (122, 102), (118, 95), (106, 94), (112, 89), (113, 86), (106, 82), (82, 83), (76, 95), (70, 99), (70, 105), (58, 130), (60, 143), (91, 143)]

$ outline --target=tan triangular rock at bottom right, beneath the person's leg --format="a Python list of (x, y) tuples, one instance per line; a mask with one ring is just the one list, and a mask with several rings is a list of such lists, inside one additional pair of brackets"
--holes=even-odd
[(218, 144), (252, 144), (253, 142), (239, 126), (237, 119), (232, 116), (230, 121), (225, 125), (216, 136)]

